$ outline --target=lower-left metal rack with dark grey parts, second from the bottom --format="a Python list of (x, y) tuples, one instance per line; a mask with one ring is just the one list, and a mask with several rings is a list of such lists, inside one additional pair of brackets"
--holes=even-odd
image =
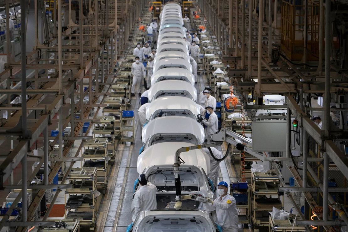
[[(96, 225), (96, 216), (97, 216), (97, 199), (96, 199), (96, 193), (97, 193), (97, 168), (72, 168), (69, 176), (67, 177), (67, 180), (69, 183), (73, 185), (73, 189), (66, 189), (65, 190), (65, 218), (66, 219), (78, 219), (79, 224), (84, 226), (89, 226), (90, 230), (94, 230), (94, 227)], [(68, 202), (68, 199), (70, 195), (83, 195), (83, 194), (90, 194), (92, 195), (92, 205), (88, 203), (82, 203), (77, 208), (72, 209), (69, 205), (66, 203)], [(83, 217), (83, 213), (85, 212), (84, 216), (88, 216), (91, 219), (87, 219), (86, 217)], [(79, 214), (81, 214), (79, 216)]]

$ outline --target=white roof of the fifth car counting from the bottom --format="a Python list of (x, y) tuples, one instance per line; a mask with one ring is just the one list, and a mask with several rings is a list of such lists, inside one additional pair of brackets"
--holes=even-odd
[(191, 94), (194, 101), (197, 101), (197, 89), (190, 83), (182, 80), (166, 80), (159, 81), (149, 89), (149, 100), (152, 101), (153, 97), (158, 91), (166, 90), (184, 90)]

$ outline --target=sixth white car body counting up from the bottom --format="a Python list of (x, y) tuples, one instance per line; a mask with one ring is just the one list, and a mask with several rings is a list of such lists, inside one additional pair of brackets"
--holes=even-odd
[(164, 80), (183, 80), (195, 85), (195, 76), (186, 69), (180, 68), (166, 68), (160, 69), (151, 76), (151, 86), (155, 85), (156, 82)]

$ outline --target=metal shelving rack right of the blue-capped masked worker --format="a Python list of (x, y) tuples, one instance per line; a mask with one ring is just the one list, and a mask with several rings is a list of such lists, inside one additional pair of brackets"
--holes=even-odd
[[(269, 211), (272, 208), (283, 209), (283, 201), (280, 200), (279, 194), (279, 176), (268, 171), (267, 173), (252, 172), (251, 173), (251, 221), (254, 231), (258, 232), (260, 228), (269, 226)], [(267, 202), (260, 203), (259, 199), (270, 196)], [(277, 196), (276, 198), (272, 196)], [(283, 197), (284, 198), (284, 197)], [(277, 199), (277, 200), (276, 200)], [(261, 229), (261, 230), (262, 230)]]

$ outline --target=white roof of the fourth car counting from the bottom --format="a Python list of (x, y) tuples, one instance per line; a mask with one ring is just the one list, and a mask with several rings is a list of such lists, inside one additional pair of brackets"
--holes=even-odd
[(151, 115), (158, 110), (188, 110), (193, 115), (200, 113), (199, 106), (197, 103), (192, 101), (187, 97), (179, 97), (179, 96), (168, 96), (168, 97), (160, 97), (153, 102), (150, 103), (148, 107), (146, 107), (145, 117), (146, 120), (151, 118)]

